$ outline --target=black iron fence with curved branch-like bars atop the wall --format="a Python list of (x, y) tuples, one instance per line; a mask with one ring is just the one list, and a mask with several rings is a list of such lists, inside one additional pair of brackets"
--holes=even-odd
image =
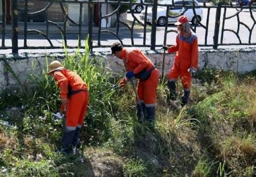
[[(212, 5), (205, 1), (197, 4), (193, 0), (172, 0), (171, 4), (163, 5), (159, 0), (49, 0), (41, 1), (44, 3), (40, 9), (32, 9), (31, 1), (23, 0), (21, 9), (19, 1), (11, 0), (11, 23), (8, 24), (8, 7), (6, 1), (1, 0), (0, 49), (11, 48), (16, 53), (27, 48), (84, 48), (87, 39), (92, 50), (109, 48), (117, 40), (124, 46), (154, 50), (174, 42), (177, 31), (173, 23), (167, 23), (168, 17), (177, 19), (189, 11), (199, 46), (256, 45), (255, 3), (243, 6), (230, 1), (227, 5)], [(136, 5), (143, 7), (143, 13), (133, 11)], [(158, 7), (169, 10), (160, 18)], [(57, 9), (61, 17), (56, 20), (53, 16)], [(172, 13), (174, 9), (180, 9), (180, 13)], [(198, 9), (203, 12), (201, 16)], [(147, 22), (149, 18), (152, 20)]]

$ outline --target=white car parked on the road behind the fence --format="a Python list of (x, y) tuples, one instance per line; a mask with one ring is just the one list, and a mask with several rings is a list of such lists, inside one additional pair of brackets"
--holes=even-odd
[[(193, 1), (195, 2), (195, 13), (193, 12)], [(165, 26), (166, 24), (166, 6), (161, 5), (172, 5), (172, 0), (162, 0), (158, 3), (157, 7), (157, 15), (156, 20), (159, 26)], [(184, 5), (188, 5), (191, 7), (184, 7)], [(179, 18), (179, 14), (183, 13), (186, 15), (191, 24), (196, 25), (198, 22), (201, 22), (203, 18), (203, 10), (200, 7), (197, 0), (174, 0), (174, 5), (168, 7), (168, 14), (170, 16), (175, 17), (168, 17), (168, 24), (173, 24), (177, 22)], [(147, 14), (145, 14), (145, 9), (141, 11), (139, 14), (140, 20), (144, 20), (146, 18), (146, 22), (152, 24), (152, 7), (148, 7)]]

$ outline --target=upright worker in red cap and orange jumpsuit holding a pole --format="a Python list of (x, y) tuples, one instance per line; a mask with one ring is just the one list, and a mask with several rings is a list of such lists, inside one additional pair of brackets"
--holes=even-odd
[(181, 98), (181, 106), (185, 106), (189, 100), (192, 74), (198, 67), (198, 44), (197, 36), (191, 31), (189, 20), (185, 15), (181, 15), (176, 23), (178, 35), (176, 44), (173, 46), (163, 46), (168, 53), (176, 52), (174, 65), (167, 75), (168, 94), (167, 100), (177, 100), (176, 81), (181, 77), (184, 94)]

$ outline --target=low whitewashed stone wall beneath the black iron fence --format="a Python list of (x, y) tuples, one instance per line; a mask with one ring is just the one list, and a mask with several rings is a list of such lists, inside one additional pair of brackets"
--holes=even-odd
[[(164, 54), (159, 51), (143, 51), (152, 59), (160, 74), (162, 73), (162, 61)], [(110, 52), (97, 52), (92, 57), (104, 56), (106, 67), (110, 67), (115, 72), (123, 70), (123, 62), (110, 55)], [(35, 74), (44, 77), (46, 74), (46, 61), (49, 63), (58, 58), (63, 60), (63, 52), (51, 52), (50, 54), (19, 54), (19, 55), (1, 55), (0, 56), (0, 91), (7, 87), (25, 84), (28, 75)], [(166, 54), (164, 62), (164, 73), (168, 73), (172, 67), (174, 54)], [(199, 69), (210, 67), (232, 70), (238, 73), (246, 73), (256, 69), (256, 48), (243, 49), (201, 49), (199, 51)], [(19, 83), (20, 81), (20, 83)]]

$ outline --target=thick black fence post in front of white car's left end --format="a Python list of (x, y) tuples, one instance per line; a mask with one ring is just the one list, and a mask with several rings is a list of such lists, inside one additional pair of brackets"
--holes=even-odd
[(156, 48), (156, 13), (157, 13), (158, 1), (155, 0), (152, 8), (152, 28), (151, 28), (151, 46), (150, 49)]

